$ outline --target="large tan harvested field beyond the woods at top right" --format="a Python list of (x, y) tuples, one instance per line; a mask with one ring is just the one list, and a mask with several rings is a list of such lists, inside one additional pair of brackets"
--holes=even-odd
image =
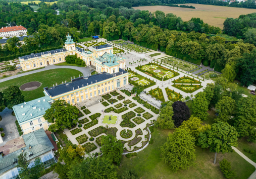
[(245, 8), (232, 8), (212, 5), (185, 4), (194, 6), (195, 9), (178, 8), (168, 6), (142, 6), (133, 7), (135, 10), (148, 10), (153, 13), (158, 10), (165, 14), (172, 13), (181, 17), (183, 21), (189, 21), (191, 18), (200, 18), (204, 23), (223, 29), (223, 23), (226, 18), (238, 18), (240, 15), (256, 13), (256, 10)]

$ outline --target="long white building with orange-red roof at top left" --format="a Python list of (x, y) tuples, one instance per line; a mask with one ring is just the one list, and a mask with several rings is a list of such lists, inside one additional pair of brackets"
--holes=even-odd
[(0, 37), (10, 37), (27, 34), (27, 29), (23, 26), (11, 26), (11, 27), (2, 27), (0, 29)]

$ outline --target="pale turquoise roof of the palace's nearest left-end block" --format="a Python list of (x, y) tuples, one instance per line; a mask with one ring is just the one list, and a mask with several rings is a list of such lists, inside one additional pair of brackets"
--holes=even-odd
[(52, 102), (50, 97), (41, 97), (26, 103), (13, 106), (13, 111), (19, 123), (34, 119), (45, 114), (45, 111), (50, 108), (49, 102)]

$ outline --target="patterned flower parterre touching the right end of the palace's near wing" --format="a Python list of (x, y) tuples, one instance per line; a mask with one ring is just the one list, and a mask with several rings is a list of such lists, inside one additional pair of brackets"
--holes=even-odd
[(143, 86), (144, 88), (153, 86), (156, 84), (155, 81), (148, 79), (147, 77), (141, 76), (136, 72), (129, 71), (129, 82), (135, 86)]

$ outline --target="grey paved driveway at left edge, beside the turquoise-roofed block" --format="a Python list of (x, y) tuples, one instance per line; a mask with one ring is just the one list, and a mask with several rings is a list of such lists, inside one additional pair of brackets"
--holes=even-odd
[(12, 115), (13, 110), (9, 110), (6, 108), (4, 111), (0, 113), (2, 116), (2, 121), (0, 121), (0, 127), (4, 128), (5, 137), (3, 137), (3, 143), (0, 143), (0, 146), (6, 144), (6, 142), (18, 138), (19, 132), (17, 126), (15, 124), (16, 117)]

